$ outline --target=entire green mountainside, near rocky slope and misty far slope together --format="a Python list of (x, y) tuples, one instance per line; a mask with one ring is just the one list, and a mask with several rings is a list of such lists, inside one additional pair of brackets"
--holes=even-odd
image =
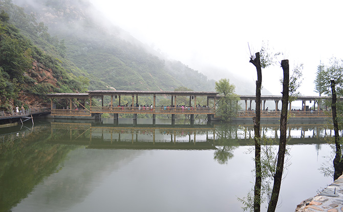
[(0, 0), (0, 11), (1, 110), (42, 107), (51, 92), (214, 89), (198, 71), (95, 18), (86, 0)]

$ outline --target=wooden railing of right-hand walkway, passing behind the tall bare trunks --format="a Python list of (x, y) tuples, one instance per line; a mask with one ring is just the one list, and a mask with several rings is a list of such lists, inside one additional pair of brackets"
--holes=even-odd
[[(281, 111), (261, 111), (261, 117), (280, 117)], [(332, 114), (330, 111), (302, 111), (292, 110), (288, 111), (288, 115), (291, 117), (330, 117)], [(253, 117), (255, 111), (239, 111), (238, 117)]]

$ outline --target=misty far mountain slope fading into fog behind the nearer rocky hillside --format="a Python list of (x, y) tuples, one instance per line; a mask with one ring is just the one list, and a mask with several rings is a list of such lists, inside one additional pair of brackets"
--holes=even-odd
[[(159, 53), (101, 16), (87, 0), (14, 0), (63, 41), (81, 70), (117, 90), (214, 90), (215, 81)], [(41, 46), (44, 48), (44, 46)], [(80, 74), (80, 73), (75, 73)], [(90, 89), (106, 89), (93, 84)]]

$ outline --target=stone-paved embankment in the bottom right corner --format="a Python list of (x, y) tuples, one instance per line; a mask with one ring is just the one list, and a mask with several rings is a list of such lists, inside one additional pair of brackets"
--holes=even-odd
[(315, 197), (297, 205), (296, 212), (343, 211), (343, 175)]

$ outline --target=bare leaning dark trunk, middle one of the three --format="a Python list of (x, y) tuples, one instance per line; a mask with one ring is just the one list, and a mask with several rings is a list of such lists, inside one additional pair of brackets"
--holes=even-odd
[(287, 113), (288, 113), (288, 99), (289, 99), (289, 64), (288, 60), (281, 61), (281, 67), (284, 70), (284, 81), (282, 90), (282, 109), (280, 117), (280, 143), (278, 145), (277, 163), (274, 174), (273, 191), (268, 205), (268, 212), (275, 211), (278, 195), (280, 193), (282, 173), (284, 170), (286, 142), (287, 142)]

